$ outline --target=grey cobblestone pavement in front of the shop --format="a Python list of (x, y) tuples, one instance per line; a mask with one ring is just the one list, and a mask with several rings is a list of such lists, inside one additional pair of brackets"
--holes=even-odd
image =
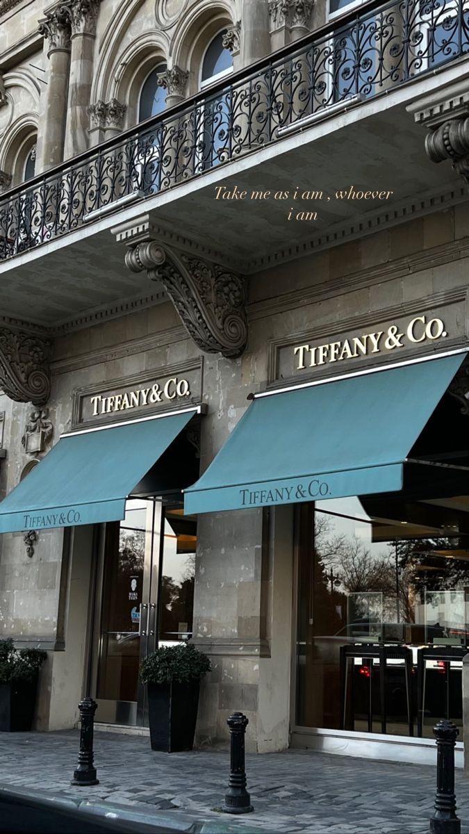
[[(77, 761), (78, 731), (14, 733), (0, 738), (3, 786), (40, 789), (72, 796), (154, 809), (185, 811), (194, 821), (222, 819), (229, 772), (227, 751), (156, 753), (149, 738), (95, 734), (100, 784), (70, 786)], [(305, 834), (427, 834), (435, 791), (435, 768), (285, 751), (247, 756), (248, 788), (255, 812), (223, 814), (240, 828)], [(469, 779), (456, 771), (458, 816), (469, 834)], [(214, 829), (216, 831), (216, 828)]]

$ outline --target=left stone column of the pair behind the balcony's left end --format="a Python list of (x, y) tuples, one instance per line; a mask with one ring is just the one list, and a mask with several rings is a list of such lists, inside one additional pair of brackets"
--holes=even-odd
[(59, 6), (39, 22), (39, 32), (48, 40), (48, 84), (41, 95), (36, 173), (63, 160), (64, 107), (70, 68), (70, 23), (66, 8)]

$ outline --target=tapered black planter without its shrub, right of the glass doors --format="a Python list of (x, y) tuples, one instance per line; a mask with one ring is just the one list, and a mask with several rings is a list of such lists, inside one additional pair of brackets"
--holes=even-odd
[(150, 683), (149, 726), (152, 750), (192, 750), (199, 706), (199, 681)]

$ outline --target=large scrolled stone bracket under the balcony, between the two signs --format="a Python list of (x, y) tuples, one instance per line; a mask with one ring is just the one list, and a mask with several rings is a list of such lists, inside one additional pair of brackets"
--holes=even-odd
[(129, 249), (125, 263), (132, 272), (147, 271), (160, 281), (195, 344), (206, 353), (240, 356), (248, 338), (245, 279), (219, 264), (210, 264), (155, 241)]

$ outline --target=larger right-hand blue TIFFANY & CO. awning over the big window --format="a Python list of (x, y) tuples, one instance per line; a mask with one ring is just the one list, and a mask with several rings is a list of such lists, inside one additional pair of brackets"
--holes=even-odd
[(260, 394), (186, 513), (401, 490), (403, 464), (466, 354)]

